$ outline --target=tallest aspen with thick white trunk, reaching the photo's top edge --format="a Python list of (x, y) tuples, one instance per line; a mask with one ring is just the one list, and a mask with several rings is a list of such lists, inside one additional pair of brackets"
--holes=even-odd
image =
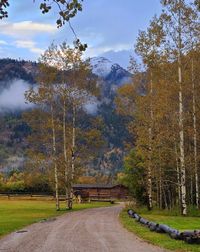
[[(164, 12), (162, 14), (165, 23), (165, 31), (169, 37), (168, 43), (175, 51), (177, 58), (177, 76), (179, 85), (179, 149), (180, 149), (180, 182), (181, 182), (181, 206), (182, 214), (187, 214), (186, 203), (186, 168), (184, 146), (184, 101), (183, 101), (183, 55), (188, 47), (188, 28), (190, 27), (193, 11), (184, 0), (162, 0)], [(190, 28), (189, 28), (190, 29)]]

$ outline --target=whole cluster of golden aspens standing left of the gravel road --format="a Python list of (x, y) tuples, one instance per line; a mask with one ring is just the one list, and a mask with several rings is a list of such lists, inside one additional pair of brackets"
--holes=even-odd
[(65, 188), (72, 208), (72, 184), (104, 145), (101, 118), (87, 115), (87, 104), (98, 97), (96, 77), (79, 48), (51, 45), (41, 56), (37, 88), (25, 94), (34, 109), (24, 113), (31, 128), (26, 169), (53, 175), (56, 209)]

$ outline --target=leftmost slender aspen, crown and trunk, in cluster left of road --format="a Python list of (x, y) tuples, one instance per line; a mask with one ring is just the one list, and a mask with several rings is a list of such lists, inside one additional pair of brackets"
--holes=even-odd
[[(59, 188), (58, 188), (58, 164), (57, 164), (57, 147), (56, 147), (56, 115), (55, 115), (55, 83), (57, 78), (57, 69), (49, 65), (49, 59), (53, 57), (53, 47), (50, 47), (42, 55), (40, 59), (40, 74), (39, 86), (37, 89), (31, 88), (26, 92), (25, 97), (28, 102), (37, 105), (42, 111), (49, 114), (43, 120), (47, 120), (51, 130), (51, 162), (54, 165), (54, 178), (55, 178), (55, 198), (56, 210), (60, 210), (59, 204)], [(45, 143), (45, 139), (41, 139)]]

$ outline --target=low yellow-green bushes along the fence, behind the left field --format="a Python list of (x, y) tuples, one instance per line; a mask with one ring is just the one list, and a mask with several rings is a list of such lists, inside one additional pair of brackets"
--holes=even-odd
[[(108, 184), (110, 177), (102, 174), (95, 176), (79, 176), (76, 179), (78, 184)], [(59, 195), (65, 195), (65, 184), (59, 181)], [(43, 172), (33, 170), (30, 172), (12, 170), (9, 173), (0, 173), (0, 194), (55, 194), (54, 171)]]

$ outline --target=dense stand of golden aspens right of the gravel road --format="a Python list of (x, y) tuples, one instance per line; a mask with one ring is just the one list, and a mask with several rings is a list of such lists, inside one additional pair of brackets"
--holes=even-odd
[[(132, 116), (135, 147), (122, 180), (152, 209), (199, 207), (200, 25), (192, 1), (162, 0), (163, 11), (135, 46), (133, 83), (119, 89), (118, 112)], [(145, 70), (144, 70), (145, 69)]]

